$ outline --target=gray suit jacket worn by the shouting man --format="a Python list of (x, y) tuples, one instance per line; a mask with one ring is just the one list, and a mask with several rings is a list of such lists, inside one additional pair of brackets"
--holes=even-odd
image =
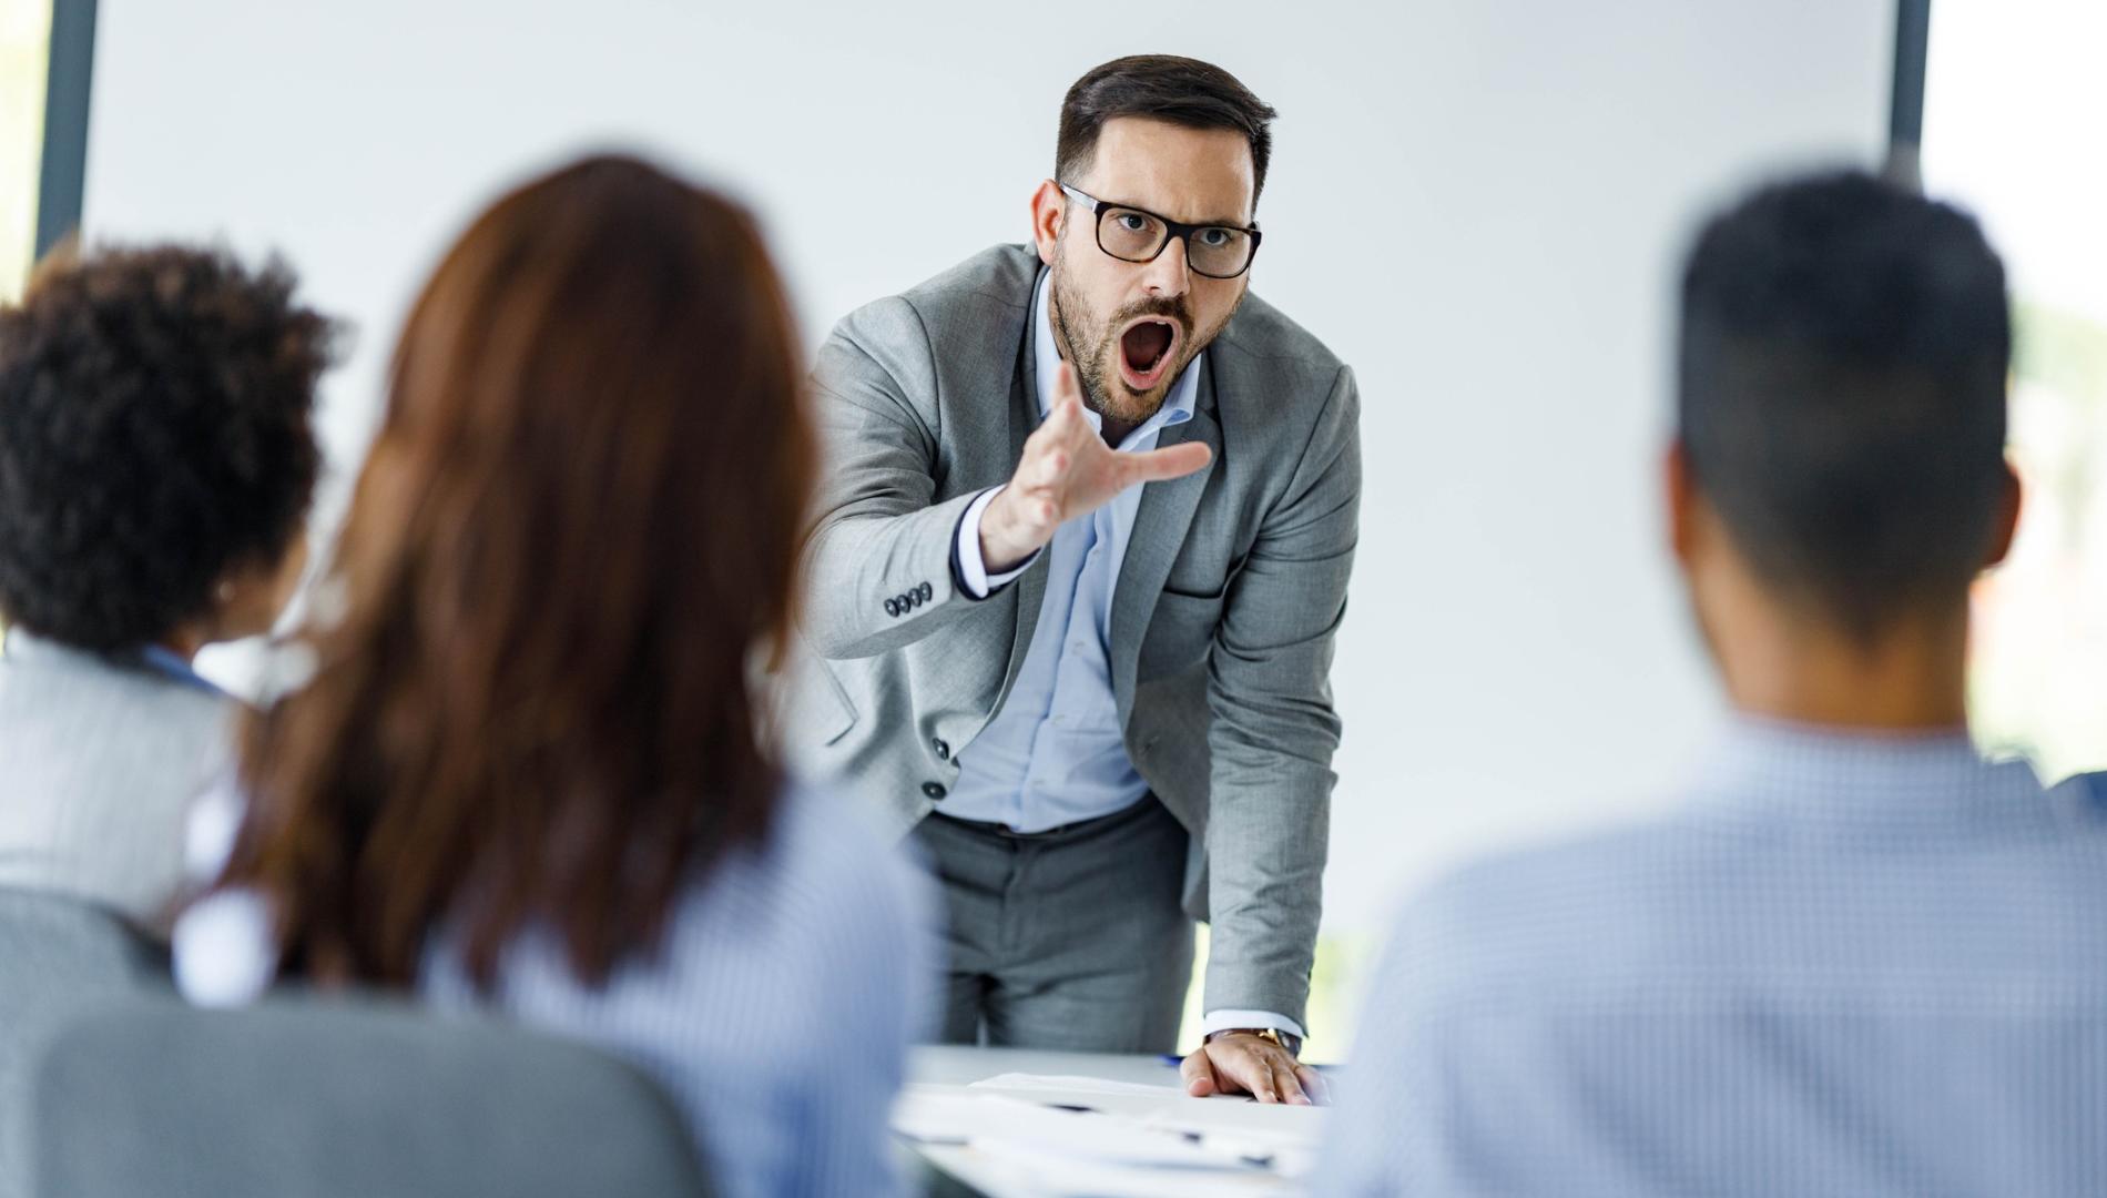
[[(807, 542), (796, 764), (906, 833), (959, 774), (1030, 645), (1045, 555), (988, 599), (952, 546), (1039, 424), (1039, 257), (997, 247), (851, 312), (813, 373), (826, 443)], [(1249, 295), (1207, 348), (1197, 475), (1150, 483), (1112, 597), (1127, 753), (1193, 831), (1186, 905), (1212, 922), (1207, 1008), (1304, 1017), (1330, 831), (1332, 635), (1361, 496), (1353, 371)]]

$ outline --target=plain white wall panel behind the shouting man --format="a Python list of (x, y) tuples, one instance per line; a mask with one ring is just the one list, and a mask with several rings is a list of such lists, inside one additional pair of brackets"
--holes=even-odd
[(1330, 877), (1355, 934), (1473, 846), (1643, 806), (1711, 719), (1652, 504), (1673, 262), (1753, 173), (1873, 160), (1892, 4), (103, 0), (99, 34), (88, 234), (287, 251), (360, 327), (346, 468), (421, 274), (529, 171), (617, 143), (735, 188), (815, 342), (1024, 238), (1089, 65), (1237, 72), (1281, 110), (1254, 285), (1365, 401)]

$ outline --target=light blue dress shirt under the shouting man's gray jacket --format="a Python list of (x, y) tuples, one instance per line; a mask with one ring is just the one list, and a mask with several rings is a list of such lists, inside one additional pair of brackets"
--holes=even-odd
[[(1047, 321), (1047, 278), (1041, 270), (1032, 295), (1041, 420), (1054, 405), (1062, 363)], [(1163, 407), (1121, 441), (1123, 453), (1155, 449), (1163, 428), (1193, 420), (1203, 359), (1195, 356), (1171, 382)], [(1096, 411), (1085, 409), (1083, 416), (1091, 428), (1104, 428)], [(995, 578), (986, 574), (980, 515), (997, 491), (982, 496), (959, 521), (959, 563), (967, 586), (980, 593), (1032, 565), (1028, 561)], [(1032, 643), (1003, 709), (959, 751), (959, 780), (944, 799), (944, 814), (1047, 831), (1121, 812), (1148, 793), (1148, 782), (1127, 757), (1110, 662), (1112, 591), (1140, 506), (1142, 487), (1127, 487), (1102, 508), (1062, 523), (1041, 550), (1047, 557), (1047, 591), (1039, 601)]]

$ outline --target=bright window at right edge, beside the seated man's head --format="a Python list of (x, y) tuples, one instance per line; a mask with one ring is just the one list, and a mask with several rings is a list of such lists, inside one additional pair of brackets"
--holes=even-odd
[(1976, 595), (1972, 717), (2046, 780), (2107, 768), (2107, 6), (1941, 0), (1924, 188), (1983, 219), (2012, 285), (2019, 540)]

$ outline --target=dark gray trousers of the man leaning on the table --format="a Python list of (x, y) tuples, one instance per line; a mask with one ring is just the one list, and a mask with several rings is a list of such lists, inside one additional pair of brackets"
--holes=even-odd
[(946, 1044), (1169, 1052), (1193, 981), (1186, 829), (1155, 795), (1043, 833), (914, 827), (950, 911)]

